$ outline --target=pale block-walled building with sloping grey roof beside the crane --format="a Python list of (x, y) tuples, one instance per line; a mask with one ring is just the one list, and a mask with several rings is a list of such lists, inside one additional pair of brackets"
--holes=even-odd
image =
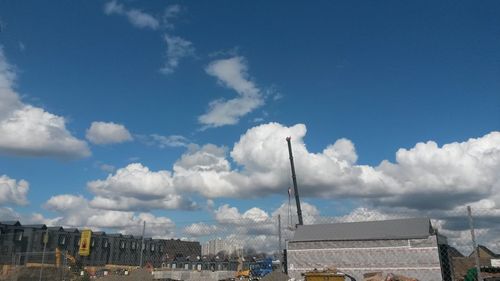
[(336, 268), (363, 280), (373, 272), (450, 281), (447, 241), (429, 219), (299, 225), (287, 246), (291, 278)]

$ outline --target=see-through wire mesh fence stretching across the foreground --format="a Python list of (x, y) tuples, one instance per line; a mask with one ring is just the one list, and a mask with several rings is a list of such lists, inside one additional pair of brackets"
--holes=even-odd
[[(153, 280), (155, 276), (172, 280), (221, 280), (235, 277), (238, 271), (267, 257), (274, 261), (270, 267), (289, 271), (290, 278), (295, 280), (302, 279), (300, 273), (304, 271), (332, 267), (357, 280), (373, 281), (495, 280), (492, 278), (500, 276), (496, 272), (496, 266), (500, 265), (500, 256), (496, 254), (500, 252), (497, 210), (356, 209), (340, 216), (306, 213), (304, 224), (415, 217), (430, 218), (436, 231), (429, 231), (429, 237), (421, 238), (359, 241), (332, 238), (297, 243), (293, 239), (297, 223), (293, 210), (290, 214), (267, 216), (249, 212), (238, 219), (227, 216), (175, 225), (146, 221), (131, 226), (125, 233), (94, 232), (87, 257), (78, 255), (79, 236), (75, 230), (71, 230), (71, 236), (64, 229), (57, 232), (40, 229), (38, 233), (49, 233), (47, 244), (43, 243), (43, 235), (37, 238), (34, 230), (31, 236), (24, 233), (23, 237), (19, 230), (4, 231), (0, 236), (3, 265), (0, 280), (107, 280), (117, 275), (118, 280)], [(366, 232), (369, 237), (370, 231)]]

